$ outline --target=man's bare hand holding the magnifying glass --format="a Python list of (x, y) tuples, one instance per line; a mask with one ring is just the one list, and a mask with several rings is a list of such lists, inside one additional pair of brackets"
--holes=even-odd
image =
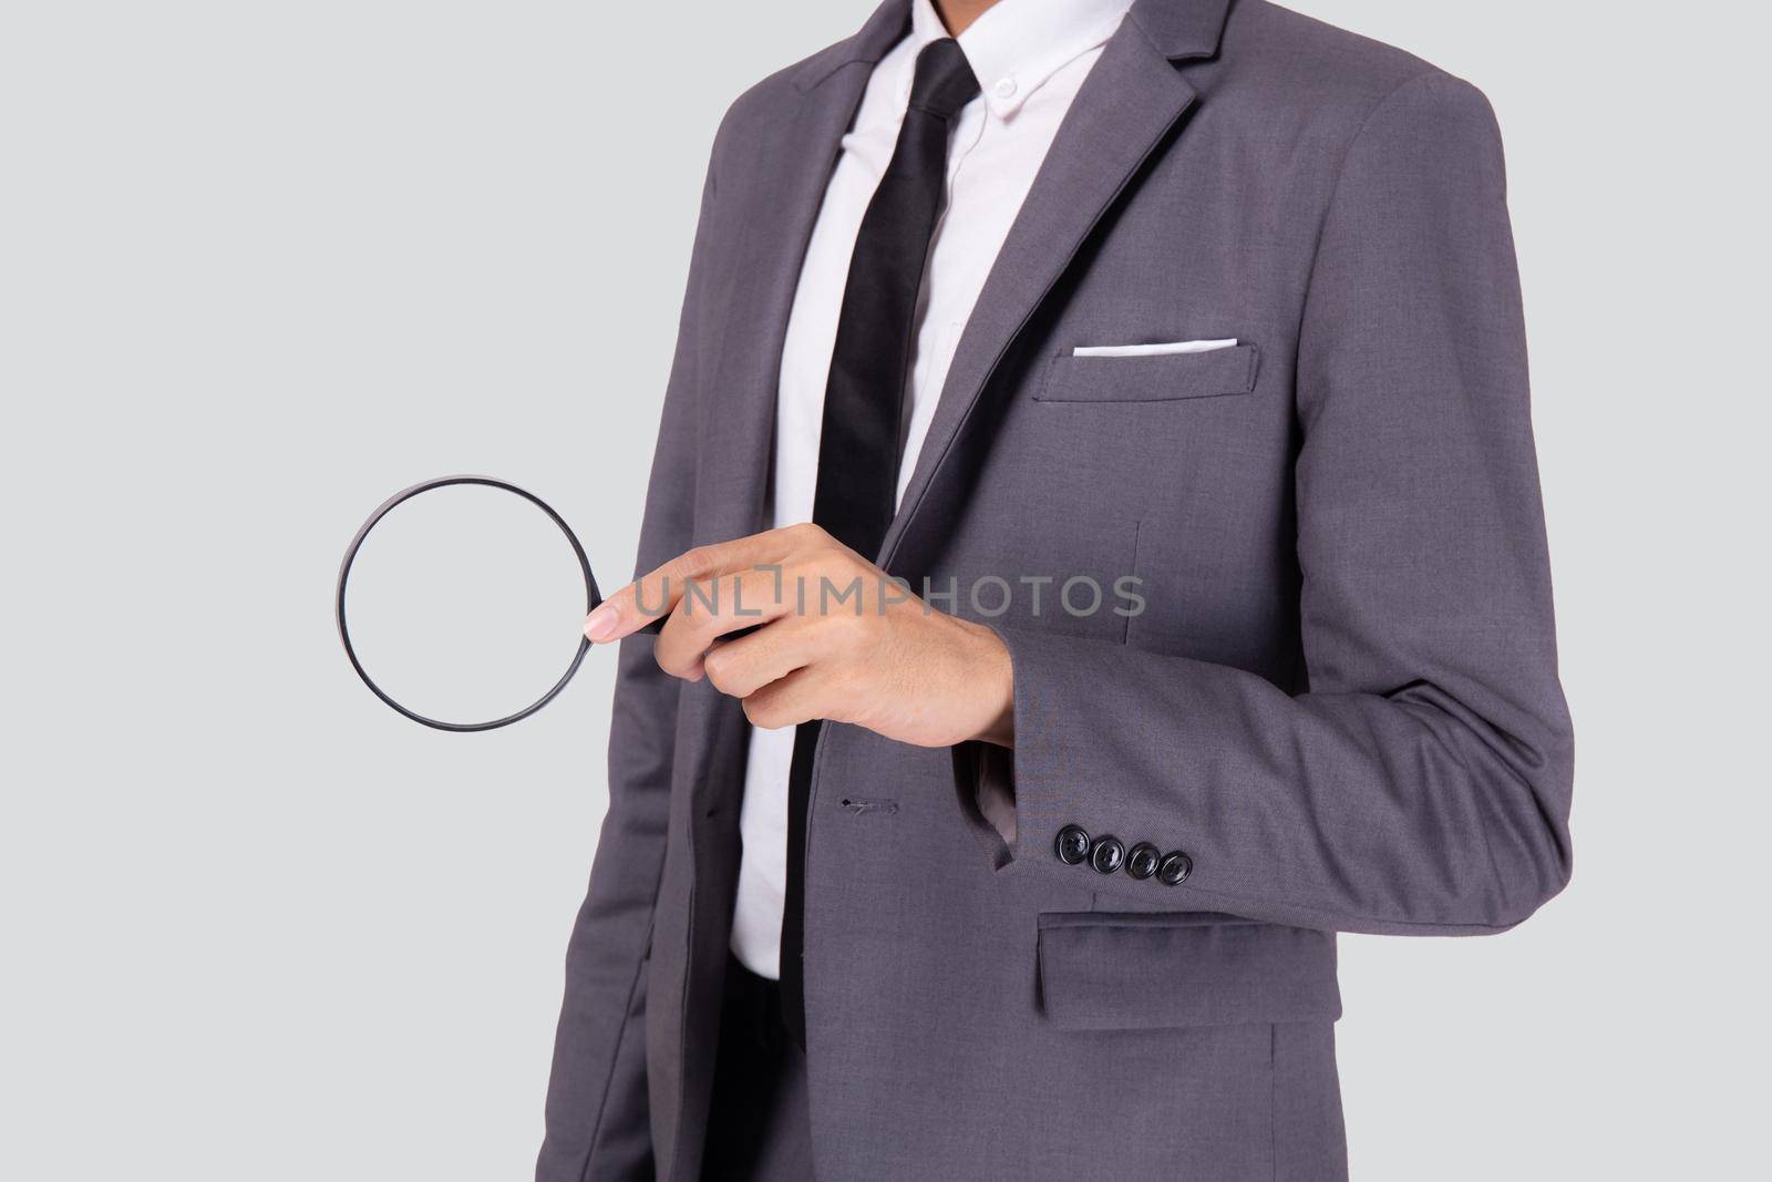
[(664, 613), (659, 668), (707, 677), (757, 727), (828, 718), (918, 746), (1014, 746), (1014, 672), (998, 634), (930, 610), (815, 525), (672, 558), (610, 595), (585, 634), (608, 643)]

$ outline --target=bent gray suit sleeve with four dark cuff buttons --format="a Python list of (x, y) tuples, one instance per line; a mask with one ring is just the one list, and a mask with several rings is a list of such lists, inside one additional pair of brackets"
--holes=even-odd
[[(1405, 83), (1348, 145), (1297, 418), (1306, 689), (1005, 631), (1014, 854), (1260, 921), (1512, 927), (1568, 881), (1574, 757), (1501, 140), (1467, 83)], [(1185, 851), (1193, 875), (1067, 867), (1053, 845), (1070, 822)]]

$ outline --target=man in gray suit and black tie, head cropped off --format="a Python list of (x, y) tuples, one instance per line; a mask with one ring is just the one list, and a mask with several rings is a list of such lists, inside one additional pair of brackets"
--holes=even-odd
[(886, 0), (728, 112), (679, 331), (537, 1177), (1343, 1177), (1334, 932), (1570, 872), (1483, 96)]

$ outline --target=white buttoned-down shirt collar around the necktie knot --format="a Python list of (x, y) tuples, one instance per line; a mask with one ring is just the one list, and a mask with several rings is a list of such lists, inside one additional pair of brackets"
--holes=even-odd
[[(989, 112), (1014, 115), (1047, 78), (1104, 44), (1131, 7), (1132, 0), (998, 0), (959, 35)], [(913, 50), (946, 35), (934, 4), (911, 0)], [(905, 101), (913, 74), (914, 66), (900, 83)]]

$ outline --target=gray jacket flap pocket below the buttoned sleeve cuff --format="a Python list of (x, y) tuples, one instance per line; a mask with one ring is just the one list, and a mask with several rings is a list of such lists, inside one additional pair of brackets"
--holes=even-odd
[(1067, 1030), (1341, 1017), (1334, 936), (1178, 914), (1040, 916), (1040, 1005)]

